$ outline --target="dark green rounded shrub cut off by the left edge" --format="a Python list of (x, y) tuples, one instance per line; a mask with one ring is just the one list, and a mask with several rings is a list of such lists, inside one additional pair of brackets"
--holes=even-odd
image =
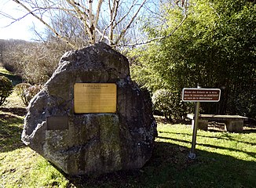
[(5, 103), (5, 99), (13, 92), (12, 81), (5, 76), (0, 76), (0, 106)]

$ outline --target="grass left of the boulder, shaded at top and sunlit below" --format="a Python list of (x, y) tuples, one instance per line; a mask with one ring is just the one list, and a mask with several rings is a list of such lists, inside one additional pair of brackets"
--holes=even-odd
[(64, 175), (21, 142), (23, 117), (0, 117), (0, 187), (66, 187)]

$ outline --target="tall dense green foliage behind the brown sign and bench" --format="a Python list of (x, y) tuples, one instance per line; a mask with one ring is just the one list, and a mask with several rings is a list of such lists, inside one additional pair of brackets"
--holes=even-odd
[[(179, 8), (168, 12), (166, 34), (183, 14)], [(250, 1), (190, 1), (188, 18), (170, 38), (133, 51), (133, 78), (152, 92), (197, 84), (218, 88), (221, 101), (202, 103), (204, 113), (255, 118), (255, 15), (256, 5)], [(150, 25), (146, 31), (152, 37), (158, 32)]]

